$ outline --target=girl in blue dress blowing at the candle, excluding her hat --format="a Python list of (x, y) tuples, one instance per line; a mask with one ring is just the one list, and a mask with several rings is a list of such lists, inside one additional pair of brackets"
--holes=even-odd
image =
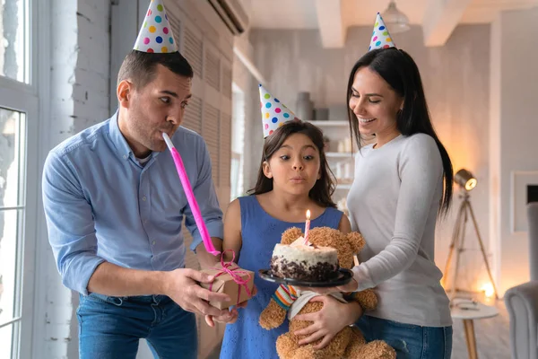
[[(308, 209), (313, 218), (311, 228), (328, 226), (350, 232), (349, 220), (334, 208), (331, 200), (334, 184), (323, 146), (322, 132), (302, 121), (286, 122), (265, 139), (253, 194), (234, 200), (224, 217), (223, 250), (236, 253), (239, 267), (255, 274), (259, 269), (269, 267), (274, 245), (280, 242), (282, 232), (293, 226), (303, 228)], [(239, 311), (237, 322), (226, 327), (221, 358), (278, 357), (276, 338), (288, 331), (288, 321), (270, 331), (258, 324), (260, 313), (278, 285), (258, 276), (255, 285), (256, 296)], [(334, 311), (334, 302), (337, 302), (328, 301), (325, 297), (313, 300), (325, 303), (318, 314), (325, 317)], [(317, 338), (324, 338), (319, 346), (325, 346), (344, 326), (359, 318), (360, 306), (356, 302), (342, 305), (337, 307), (343, 314), (338, 320), (333, 320), (334, 328), (317, 331)]]

